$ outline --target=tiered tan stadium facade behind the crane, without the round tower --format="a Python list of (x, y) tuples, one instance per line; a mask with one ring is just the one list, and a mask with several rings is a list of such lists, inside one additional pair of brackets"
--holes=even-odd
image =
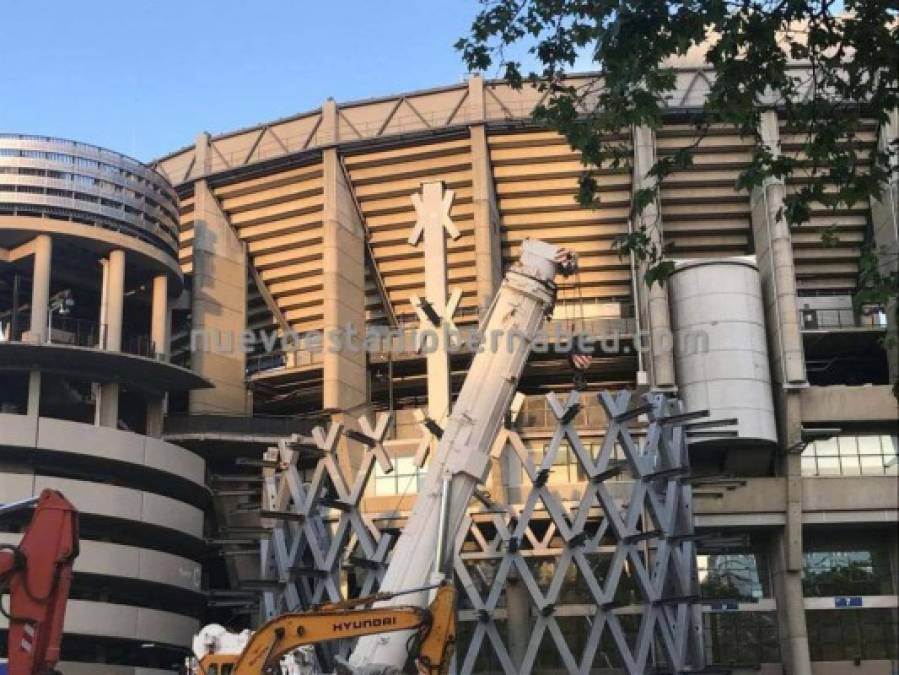
[[(424, 355), (397, 335), (424, 324), (429, 311), (459, 328), (476, 326), (522, 240), (535, 237), (576, 250), (580, 260), (578, 275), (560, 287), (550, 342), (566, 331), (609, 338), (596, 346), (584, 374), (588, 392), (677, 393), (688, 407), (707, 406), (738, 420), (736, 437), (691, 446), (696, 525), (705, 535), (698, 566), (708, 661), (735, 672), (891, 672), (899, 466), (890, 383), (897, 372), (883, 341), (895, 331), (894, 313), (858, 308), (852, 298), (862, 251), (896, 250), (896, 186), (884, 186), (882, 200), (870, 204), (814, 208), (809, 223), (790, 231), (780, 205), (801, 180), (737, 190), (756, 137), (713, 125), (694, 165), (667, 180), (643, 212), (642, 225), (684, 268), (672, 284), (647, 288), (639, 265), (612, 244), (641, 224), (629, 221), (631, 195), (650, 181), (655, 158), (693, 140), (691, 119), (711, 76), (700, 66), (678, 67), (664, 124), (635, 128), (626, 139), (633, 167), (599, 171), (596, 210), (575, 202), (583, 170), (577, 153), (531, 120), (541, 94), (480, 77), (356, 103), (329, 99), (320, 109), (251, 129), (200, 134), (154, 163), (180, 201), (177, 245), (157, 245), (167, 256), (168, 292), (159, 297), (171, 300), (171, 361), (154, 366), (189, 369), (199, 382), (168, 387), (164, 441), (153, 438), (160, 429), (151, 414), (140, 438), (188, 448), (190, 457), (207, 462), (212, 493), (204, 590), (215, 618), (238, 626), (255, 616), (258, 541), (265, 536), (259, 466), (277, 440), (325, 419), (352, 426), (360, 414), (392, 411), (385, 446), (396, 469), (375, 469), (363, 505), (374, 522), (402, 524), (421, 474), (413, 462), (419, 422), (446, 414), (471, 354)], [(889, 147), (896, 124), (894, 115), (889, 125), (864, 125), (855, 141), (859, 151)], [(777, 152), (802, 151), (802, 139), (787, 133), (775, 111), (762, 116), (757, 138)], [(3, 209), (6, 194), (0, 192)], [(415, 233), (429, 204), (446, 216), (440, 236), (430, 238)], [(22, 221), (0, 215), (0, 223), (7, 218)], [(27, 220), (32, 228), (34, 222)], [(65, 227), (75, 224), (66, 220)], [(825, 245), (825, 230), (837, 234), (837, 245)], [(6, 249), (23, 243), (7, 242)], [(111, 265), (111, 246), (97, 250), (97, 259)], [(158, 267), (141, 267), (144, 258), (128, 251), (136, 275), (128, 289), (160, 276)], [(728, 315), (736, 327), (726, 335), (755, 337), (729, 349), (710, 342), (707, 353), (690, 360), (677, 337), (692, 311), (714, 304), (708, 298), (715, 288), (690, 300), (696, 289), (678, 294), (677, 277), (717, 267), (729, 283), (737, 273), (722, 266), (745, 271), (746, 288), (755, 288), (743, 293), (751, 300), (719, 307), (754, 307), (742, 318)], [(179, 296), (182, 278), (189, 284)], [(689, 290), (690, 283), (684, 286)], [(139, 303), (140, 292), (125, 297)], [(40, 310), (39, 302), (34, 306)], [(34, 325), (43, 325), (44, 316), (32, 318)], [(702, 319), (707, 326), (717, 321), (708, 313)], [(744, 331), (740, 322), (751, 328)], [(367, 350), (315, 347), (323, 336), (373, 328), (395, 334)], [(741, 360), (751, 376), (734, 365)], [(33, 390), (34, 374), (17, 377), (22, 392)], [(531, 357), (519, 383), (525, 399), (510, 424), (535, 458), (554, 427), (543, 395), (571, 386), (561, 350)], [(122, 399), (120, 392), (120, 411)], [(595, 396), (585, 399), (592, 403), (580, 414), (593, 431), (584, 440), (595, 447), (604, 420)], [(17, 410), (33, 411), (27, 403), (23, 398)], [(148, 410), (154, 405), (148, 400)], [(744, 427), (746, 410), (757, 415)], [(26, 419), (31, 415), (14, 421)], [(86, 426), (112, 432), (104, 419), (111, 417), (99, 415), (100, 426)], [(23, 436), (34, 438), (29, 433)], [(351, 442), (339, 457), (348, 473), (358, 469), (360, 452)], [(563, 499), (574, 500), (585, 477), (571, 453), (558, 457), (549, 480)], [(513, 466), (495, 467), (488, 487), (518, 504), (525, 487)], [(167, 499), (184, 499), (171, 484), (164, 480), (157, 489), (168, 490)], [(186, 501), (191, 509), (204, 507)], [(200, 530), (182, 534), (195, 540)], [(177, 551), (185, 560), (199, 559), (187, 546)], [(563, 595), (576, 604), (576, 591)], [(521, 611), (527, 620), (529, 610)], [(564, 630), (575, 649), (577, 623)], [(146, 640), (167, 643), (161, 636), (140, 638)], [(496, 669), (489, 656), (481, 665), (485, 672)], [(596, 662), (597, 672), (603, 665)], [(551, 650), (537, 668), (558, 671)]]

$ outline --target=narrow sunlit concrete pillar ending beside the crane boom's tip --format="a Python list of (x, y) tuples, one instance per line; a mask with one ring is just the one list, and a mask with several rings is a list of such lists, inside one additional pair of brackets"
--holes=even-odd
[[(500, 245), (500, 215), (496, 206), (493, 167), (487, 146), (484, 118), (484, 81), (480, 76), (468, 80), (471, 117), (471, 188), (474, 211), (475, 276), (478, 314), (483, 317), (499, 288), (503, 275)], [(480, 124), (474, 122), (480, 121)]]

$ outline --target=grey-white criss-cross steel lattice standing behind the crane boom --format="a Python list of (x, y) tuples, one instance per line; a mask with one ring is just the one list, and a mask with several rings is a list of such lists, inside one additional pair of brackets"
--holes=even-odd
[[(503, 672), (530, 673), (546, 640), (559, 665), (571, 673), (607, 663), (620, 664), (628, 673), (702, 667), (686, 428), (704, 412), (684, 414), (679, 401), (663, 394), (644, 394), (632, 405), (629, 391), (603, 392), (599, 400), (608, 428), (594, 454), (581, 436), (602, 430), (575, 428), (582, 395), (573, 391), (564, 402), (547, 396), (556, 423), (539, 464), (512, 429), (502, 430), (494, 446), (495, 457), (511, 453), (521, 466), (523, 503), (496, 504), (479, 494), (456, 539), (460, 621), (474, 624), (468, 643), (459, 645), (455, 667), (460, 675), (475, 672), (485, 649)], [(343, 598), (350, 586), (353, 595), (369, 594), (383, 579), (395, 533), (379, 531), (361, 512), (360, 499), (374, 463), (382, 470), (390, 466), (383, 445), (389, 416), (379, 415), (374, 427), (364, 417), (359, 423), (361, 434), (352, 435), (367, 442), (352, 484), (336, 462), (337, 441), (345, 433), (337, 424), (327, 432), (316, 428), (312, 439), (282, 443), (267, 455), (263, 516), (272, 531), (261, 549), (269, 582), (262, 593), (264, 617)], [(641, 442), (634, 436), (638, 428), (644, 434)], [(563, 500), (548, 484), (564, 447), (587, 479), (574, 502)], [(616, 447), (623, 461), (613, 458)], [(303, 452), (320, 454), (309, 482), (296, 469)], [(623, 480), (608, 482), (619, 476)], [(554, 571), (548, 585), (541, 587), (528, 560), (550, 563)], [(485, 565), (492, 573), (480, 573)], [(577, 604), (564, 604), (561, 593), (572, 567), (586, 593)], [(530, 638), (519, 663), (513, 662), (501, 626), (510, 579), (523, 584), (530, 603)], [(630, 595), (624, 589), (629, 582), (634, 582)], [(589, 624), (580, 653), (569, 647), (561, 616), (581, 616)], [(622, 625), (624, 616), (639, 618), (635, 635)], [(337, 651), (345, 656), (349, 645)]]

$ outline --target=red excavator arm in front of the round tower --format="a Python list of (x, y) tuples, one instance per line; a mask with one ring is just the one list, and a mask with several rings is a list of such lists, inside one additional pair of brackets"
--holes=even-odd
[(0, 594), (9, 589), (9, 675), (50, 675), (59, 661), (72, 564), (78, 555), (78, 511), (56, 490), (0, 507), (0, 515), (30, 508), (18, 546), (0, 548)]

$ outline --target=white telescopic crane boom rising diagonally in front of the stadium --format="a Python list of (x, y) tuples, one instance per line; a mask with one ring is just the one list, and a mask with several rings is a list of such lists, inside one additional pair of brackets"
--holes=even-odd
[[(523, 242), (520, 260), (506, 273), (481, 325), (481, 348), (431, 457), (381, 591), (440, 581), (441, 558), (449, 556), (474, 489), (486, 478), (490, 446), (515, 394), (531, 343), (555, 302), (553, 279), (559, 271), (573, 271), (574, 265), (573, 254), (565, 249), (534, 239)], [(445, 546), (440, 552), (438, 542)], [(425, 606), (426, 593), (413, 596), (412, 603)], [(369, 671), (400, 668), (407, 640), (408, 632), (362, 637), (350, 666)]]

